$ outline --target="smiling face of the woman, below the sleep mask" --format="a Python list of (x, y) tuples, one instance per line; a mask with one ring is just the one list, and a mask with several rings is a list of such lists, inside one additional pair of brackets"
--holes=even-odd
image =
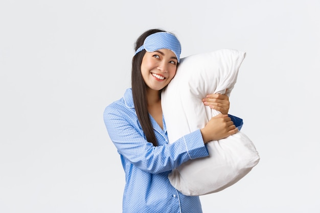
[(141, 74), (152, 90), (161, 90), (173, 79), (178, 60), (171, 50), (146, 52), (141, 64)]

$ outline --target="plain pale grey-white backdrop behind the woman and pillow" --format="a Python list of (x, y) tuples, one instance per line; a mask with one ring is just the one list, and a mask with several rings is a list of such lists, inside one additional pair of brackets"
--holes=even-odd
[[(130, 87), (135, 39), (181, 57), (246, 52), (230, 114), (261, 160), (203, 212), (320, 212), (320, 1), (0, 2), (0, 212), (121, 212), (124, 172), (103, 110)], [(192, 213), (192, 212), (191, 212)]]

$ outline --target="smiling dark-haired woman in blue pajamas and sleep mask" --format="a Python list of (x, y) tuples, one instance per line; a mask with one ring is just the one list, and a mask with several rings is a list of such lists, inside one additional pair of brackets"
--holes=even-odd
[(185, 196), (168, 174), (189, 159), (208, 156), (205, 144), (238, 131), (228, 97), (210, 94), (204, 105), (222, 112), (197, 131), (169, 145), (161, 91), (175, 76), (181, 47), (171, 33), (153, 29), (135, 43), (131, 88), (105, 108), (104, 122), (125, 171), (123, 212), (202, 212), (198, 196)]

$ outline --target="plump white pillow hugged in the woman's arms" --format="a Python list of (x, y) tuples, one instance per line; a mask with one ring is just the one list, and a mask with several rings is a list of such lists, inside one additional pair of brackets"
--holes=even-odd
[[(169, 143), (201, 129), (220, 112), (204, 106), (210, 93), (230, 96), (245, 52), (218, 50), (182, 58), (175, 77), (162, 92), (162, 109)], [(233, 185), (259, 162), (252, 141), (242, 132), (207, 144), (209, 157), (189, 160), (168, 178), (182, 194), (215, 193)]]

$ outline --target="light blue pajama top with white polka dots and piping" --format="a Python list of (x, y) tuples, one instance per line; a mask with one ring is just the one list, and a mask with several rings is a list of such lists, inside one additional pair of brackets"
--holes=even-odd
[[(242, 120), (230, 116), (240, 130)], [(168, 179), (181, 163), (209, 155), (200, 130), (169, 145), (164, 118), (162, 129), (150, 115), (158, 143), (154, 147), (146, 140), (135, 114), (131, 88), (105, 108), (103, 118), (125, 172), (123, 212), (202, 212), (198, 196), (182, 195)]]

